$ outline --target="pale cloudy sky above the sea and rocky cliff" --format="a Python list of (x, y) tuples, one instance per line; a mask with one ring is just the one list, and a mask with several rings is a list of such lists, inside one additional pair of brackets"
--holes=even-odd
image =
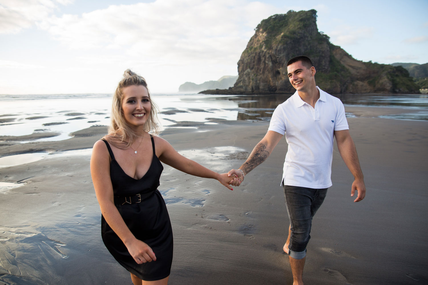
[(357, 60), (428, 62), (426, 0), (0, 0), (0, 94), (111, 94), (127, 68), (175, 93), (238, 75), (260, 21), (309, 9)]

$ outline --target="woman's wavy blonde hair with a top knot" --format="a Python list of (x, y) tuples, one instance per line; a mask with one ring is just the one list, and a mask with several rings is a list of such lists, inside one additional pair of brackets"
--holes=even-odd
[[(134, 129), (132, 129), (125, 120), (122, 110), (122, 89), (132, 85), (143, 85), (147, 88), (147, 82), (143, 76), (140, 76), (130, 69), (127, 69), (123, 73), (123, 78), (117, 85), (116, 91), (113, 94), (111, 123), (108, 127), (108, 135), (103, 137), (107, 141), (111, 142), (114, 146), (121, 149), (128, 148), (135, 141), (135, 139), (139, 137), (139, 135), (137, 135)], [(153, 135), (158, 135), (160, 133), (160, 123), (158, 119), (159, 108), (156, 103), (152, 101), (149, 88), (147, 88), (147, 91), (149, 92), (149, 101), (152, 105), (152, 110), (149, 113), (149, 118), (147, 118), (147, 121), (144, 124), (143, 130), (145, 132), (151, 132)]]

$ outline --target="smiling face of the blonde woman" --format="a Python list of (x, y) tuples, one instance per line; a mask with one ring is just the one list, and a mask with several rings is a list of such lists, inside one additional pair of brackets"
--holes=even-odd
[(152, 104), (146, 87), (131, 85), (122, 88), (123, 117), (130, 126), (144, 126), (151, 110)]

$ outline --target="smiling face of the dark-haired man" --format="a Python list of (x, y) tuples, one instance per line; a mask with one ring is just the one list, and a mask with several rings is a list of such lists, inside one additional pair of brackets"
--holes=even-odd
[(304, 91), (305, 88), (315, 87), (315, 68), (313, 66), (308, 68), (301, 61), (294, 62), (287, 66), (287, 75), (291, 85), (297, 91)]

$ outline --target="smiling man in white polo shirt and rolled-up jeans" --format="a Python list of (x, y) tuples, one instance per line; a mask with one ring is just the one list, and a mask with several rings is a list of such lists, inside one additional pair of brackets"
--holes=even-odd
[(285, 134), (288, 151), (285, 156), (282, 183), (290, 227), (284, 245), (288, 253), (293, 285), (303, 285), (302, 273), (312, 225), (312, 217), (324, 201), (331, 183), (333, 136), (346, 166), (354, 175), (351, 196), (354, 202), (366, 196), (363, 173), (354, 141), (349, 134), (342, 102), (315, 84), (315, 68), (306, 56), (287, 62), (287, 73), (296, 92), (273, 112), (265, 137), (254, 147), (247, 161), (229, 176), (244, 176), (264, 162)]

